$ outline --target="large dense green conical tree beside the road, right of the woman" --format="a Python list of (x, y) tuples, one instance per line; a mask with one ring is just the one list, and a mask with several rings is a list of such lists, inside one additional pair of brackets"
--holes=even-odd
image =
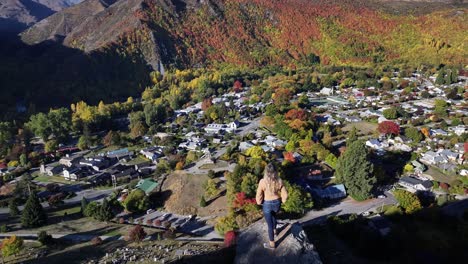
[(344, 183), (349, 195), (361, 201), (371, 197), (376, 183), (374, 166), (368, 160), (367, 148), (362, 140), (353, 142), (346, 152), (338, 158), (335, 177)]

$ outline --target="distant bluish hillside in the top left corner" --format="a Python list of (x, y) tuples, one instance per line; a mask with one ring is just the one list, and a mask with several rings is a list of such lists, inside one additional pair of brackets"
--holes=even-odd
[(0, 33), (17, 33), (81, 0), (2, 0)]

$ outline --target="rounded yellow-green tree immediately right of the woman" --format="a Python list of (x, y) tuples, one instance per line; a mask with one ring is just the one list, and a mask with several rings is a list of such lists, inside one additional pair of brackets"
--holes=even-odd
[(288, 191), (288, 199), (281, 205), (281, 208), (287, 213), (303, 214), (307, 209), (314, 206), (309, 192), (305, 192), (301, 187), (289, 182), (283, 181)]

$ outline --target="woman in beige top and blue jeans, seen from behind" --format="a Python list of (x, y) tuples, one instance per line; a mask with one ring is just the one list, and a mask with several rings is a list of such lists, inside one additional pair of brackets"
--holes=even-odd
[(257, 204), (263, 204), (263, 215), (268, 225), (268, 238), (270, 243), (264, 243), (265, 248), (275, 248), (276, 230), (276, 213), (278, 213), (281, 203), (288, 199), (288, 192), (284, 187), (283, 182), (278, 177), (278, 171), (275, 165), (269, 163), (265, 167), (263, 179), (258, 183), (257, 188)]

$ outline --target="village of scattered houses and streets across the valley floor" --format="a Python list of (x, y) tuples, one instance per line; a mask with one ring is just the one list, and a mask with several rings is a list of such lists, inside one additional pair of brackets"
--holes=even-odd
[[(397, 76), (398, 72), (394, 74)], [(176, 177), (175, 174), (205, 177), (203, 179), (208, 179), (208, 175), (209, 179), (204, 180), (204, 185), (209, 182), (215, 186), (215, 191), (212, 191), (215, 194), (209, 195), (210, 208), (217, 199), (222, 199), (219, 197), (229, 188), (226, 175), (234, 173), (238, 163), (245, 157), (253, 160), (256, 156), (268, 156), (289, 168), (287, 175), (295, 175), (291, 181), (300, 186), (303, 192), (309, 193), (316, 204), (320, 201), (322, 208), (312, 209), (309, 214), (305, 211), (306, 214), (298, 219), (299, 222), (314, 221), (328, 213), (329, 204), (343, 201), (339, 205), (343, 212), (369, 217), (372, 219), (371, 225), (385, 235), (389, 232), (390, 224), (385, 219), (384, 207), (388, 209), (398, 204), (392, 194), (393, 190), (424, 193), (425, 197), (437, 201), (463, 200), (468, 197), (465, 160), (465, 119), (468, 110), (463, 95), (458, 98), (446, 96), (455, 87), (466, 89), (468, 78), (459, 76), (458, 82), (451, 85), (435, 85), (435, 78), (425, 78), (417, 73), (402, 78), (415, 85), (411, 91), (405, 88), (389, 92), (374, 87), (334, 86), (292, 95), (286, 104), (301, 102), (306, 115), (318, 126), (343, 131), (335, 133), (328, 142), (331, 151), (323, 149), (326, 157), (319, 158), (322, 150), (318, 150), (315, 154), (317, 158), (312, 162), (307, 161), (303, 150), (295, 147), (298, 146), (297, 142), (293, 144), (294, 140), (275, 133), (272, 126), (266, 124), (265, 113), (273, 101), (250, 103), (248, 98), (251, 97), (251, 88), (243, 87), (241, 91), (225, 93), (209, 101), (175, 110), (173, 116), (167, 117), (164, 122), (167, 125), (161, 131), (143, 135), (138, 145), (97, 145), (88, 150), (80, 150), (74, 144), (61, 146), (56, 154), (49, 153), (52, 162), (31, 168), (10, 184), (20, 182), (21, 177), (31, 178), (30, 183), (42, 189), (38, 197), (45, 208), (74, 208), (83, 200), (102, 202), (115, 199), (125, 208), (113, 217), (115, 223), (172, 230), (178, 234), (179, 240), (216, 241), (223, 239), (223, 234), (215, 230), (215, 220), (220, 215), (207, 212), (199, 214), (206, 203), (200, 199), (205, 201), (208, 198), (205, 197), (208, 187), (203, 187), (205, 190), (202, 193), (205, 194), (202, 198), (199, 193), (192, 197), (192, 205), (196, 204), (198, 209), (171, 211), (164, 205), (164, 201), (168, 201), (167, 197), (161, 198), (161, 193), (169, 191), (174, 195), (187, 190), (171, 189), (166, 186), (167, 182)], [(225, 116), (222, 120), (224, 122), (207, 124), (205, 112), (210, 106), (216, 105), (234, 110)], [(434, 115), (437, 111), (443, 112), (443, 115)], [(130, 123), (130, 118), (120, 117), (116, 121), (125, 127)], [(396, 173), (392, 174), (396, 178), (386, 179), (381, 188), (376, 188), (373, 199), (359, 205), (347, 202), (351, 198), (348, 197), (346, 184), (336, 182), (334, 177), (337, 155), (333, 153), (341, 151), (350, 133), (356, 133), (357, 138), (365, 142), (374, 164), (379, 165), (398, 157), (398, 166), (402, 167), (382, 164), (387, 171)], [(454, 137), (463, 137), (465, 142), (454, 142), (451, 140)], [(311, 139), (315, 142), (324, 140), (319, 139), (317, 134)], [(40, 147), (41, 143), (36, 145)], [(232, 158), (233, 154), (237, 155), (236, 159)], [(185, 162), (174, 163), (174, 156), (185, 157)], [(3, 164), (0, 175), (9, 175), (15, 170), (15, 167)], [(158, 205), (147, 202), (137, 205), (138, 210), (129, 210), (125, 200), (137, 193), (137, 190), (139, 194), (151, 197), (139, 197), (140, 200), (156, 197), (164, 201)], [(8, 218), (8, 210), (6, 207), (0, 208), (1, 218)], [(221, 209), (212, 209), (210, 212), (213, 210)], [(6, 236), (6, 232), (2, 233)], [(112, 236), (103, 237), (106, 239)]]

